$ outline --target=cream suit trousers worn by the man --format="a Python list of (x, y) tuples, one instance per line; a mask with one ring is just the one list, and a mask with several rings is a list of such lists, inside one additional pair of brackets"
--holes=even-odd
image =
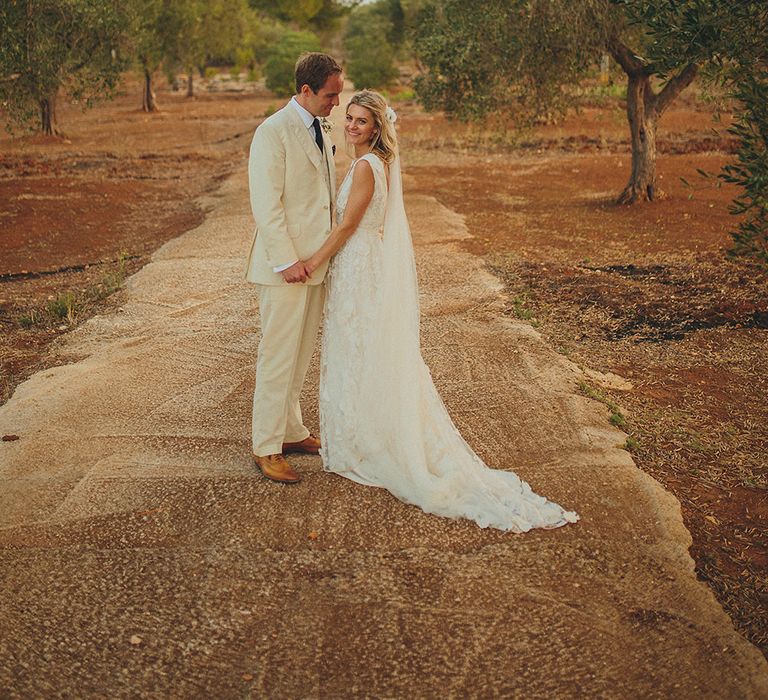
[(325, 285), (258, 285), (261, 342), (253, 392), (253, 453), (279, 454), (309, 435), (299, 406), (323, 313)]

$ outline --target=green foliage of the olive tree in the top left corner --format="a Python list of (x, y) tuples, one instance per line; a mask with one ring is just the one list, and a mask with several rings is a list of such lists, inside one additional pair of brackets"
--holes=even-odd
[(113, 94), (126, 66), (127, 16), (111, 0), (0, 3), (0, 105), (8, 128), (28, 127), (64, 90), (84, 107)]

